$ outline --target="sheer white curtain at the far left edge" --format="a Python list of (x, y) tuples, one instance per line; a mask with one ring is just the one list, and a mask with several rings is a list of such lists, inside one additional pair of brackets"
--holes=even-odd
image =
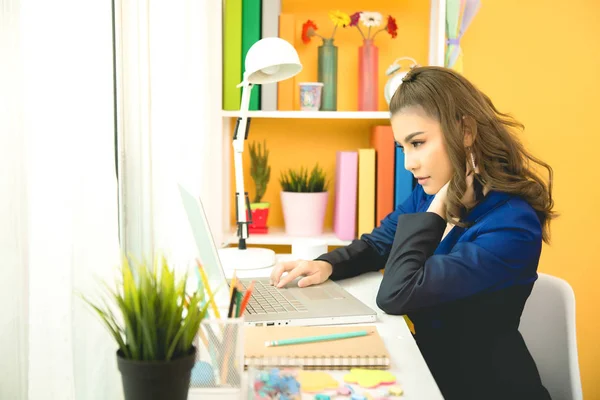
[(0, 13), (0, 398), (118, 399), (115, 344), (78, 295), (119, 254), (111, 5)]

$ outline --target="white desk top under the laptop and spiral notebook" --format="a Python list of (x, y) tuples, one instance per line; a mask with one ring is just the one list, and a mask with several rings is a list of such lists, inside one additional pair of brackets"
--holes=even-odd
[[(283, 257), (282, 257), (283, 258)], [(239, 278), (269, 276), (271, 268), (237, 271)], [(375, 296), (383, 275), (379, 272), (367, 273), (355, 278), (338, 281), (340, 286), (353, 296), (377, 311), (377, 330), (392, 356), (390, 372), (396, 375), (397, 383), (404, 389), (404, 400), (436, 400), (443, 399), (417, 344), (415, 343), (406, 321), (401, 316), (387, 315), (375, 304)], [(345, 372), (332, 371), (331, 375), (342, 382)], [(246, 397), (244, 397), (246, 398)], [(305, 395), (303, 399), (313, 399)]]

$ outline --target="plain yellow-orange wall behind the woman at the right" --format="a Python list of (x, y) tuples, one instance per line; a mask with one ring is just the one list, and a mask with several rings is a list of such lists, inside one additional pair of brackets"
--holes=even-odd
[(586, 399), (600, 398), (600, 2), (483, 1), (464, 38), (464, 74), (525, 124), (554, 168), (552, 245), (540, 271), (575, 291)]

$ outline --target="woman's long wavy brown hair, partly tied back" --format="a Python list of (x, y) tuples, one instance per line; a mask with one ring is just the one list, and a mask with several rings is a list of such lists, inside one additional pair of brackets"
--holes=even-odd
[[(461, 199), (467, 189), (466, 165), (469, 153), (475, 157), (479, 172), (473, 186), (475, 198), (481, 199), (483, 186), (525, 199), (536, 211), (542, 224), (542, 237), (550, 240), (552, 178), (550, 165), (529, 153), (517, 133), (523, 125), (501, 113), (492, 101), (471, 82), (451, 69), (417, 67), (409, 71), (390, 101), (390, 114), (408, 107), (421, 107), (439, 121), (454, 174), (448, 185), (446, 214), (449, 220), (462, 219), (467, 209)], [(472, 146), (465, 149), (465, 132), (472, 135)], [(548, 182), (536, 172), (543, 167)]]

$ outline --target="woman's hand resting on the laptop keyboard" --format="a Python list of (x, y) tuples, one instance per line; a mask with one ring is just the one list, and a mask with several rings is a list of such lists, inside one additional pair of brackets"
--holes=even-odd
[[(287, 275), (283, 276), (283, 273)], [(325, 282), (333, 273), (333, 267), (326, 261), (287, 261), (278, 263), (271, 272), (271, 285), (278, 288), (284, 287), (297, 277), (304, 275), (298, 281), (299, 287), (318, 285)]]

